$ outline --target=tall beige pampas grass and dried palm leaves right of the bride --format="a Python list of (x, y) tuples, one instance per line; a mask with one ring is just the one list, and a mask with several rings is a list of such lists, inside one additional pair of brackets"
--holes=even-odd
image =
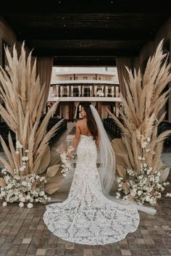
[[(157, 126), (164, 119), (165, 113), (159, 117), (159, 111), (167, 102), (170, 89), (162, 94), (164, 87), (171, 80), (170, 64), (167, 64), (167, 54), (162, 51), (163, 40), (146, 65), (142, 75), (140, 68), (133, 72), (126, 67), (129, 78), (125, 80), (126, 98), (121, 94), (125, 115), (119, 110), (124, 125), (108, 109), (110, 115), (122, 131), (122, 139), (113, 139), (112, 146), (116, 154), (117, 169), (120, 175), (125, 175), (126, 168), (132, 168), (139, 173), (142, 156), (146, 164), (152, 168), (152, 173), (162, 169), (162, 148), (164, 139), (171, 131), (157, 136)], [(145, 147), (142, 148), (142, 145)], [(122, 166), (122, 168), (120, 168)]]

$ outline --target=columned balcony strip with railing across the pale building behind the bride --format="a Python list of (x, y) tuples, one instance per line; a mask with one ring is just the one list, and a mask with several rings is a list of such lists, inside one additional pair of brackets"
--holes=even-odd
[(53, 97), (120, 97), (119, 85), (51, 86), (49, 98)]

